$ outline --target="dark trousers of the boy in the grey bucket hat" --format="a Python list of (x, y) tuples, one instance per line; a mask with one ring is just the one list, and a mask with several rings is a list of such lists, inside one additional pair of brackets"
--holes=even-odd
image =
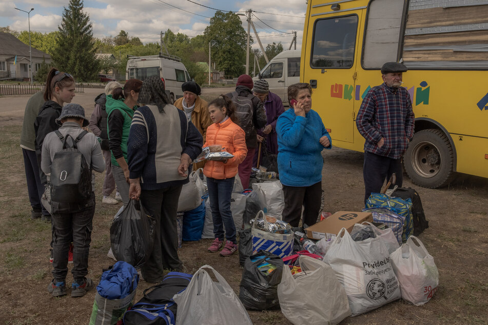
[(88, 253), (90, 251), (95, 194), (92, 192), (90, 207), (74, 213), (53, 213), (52, 215), (52, 276), (65, 280), (68, 274), (69, 244), (73, 241), (73, 279), (82, 280), (88, 274)]

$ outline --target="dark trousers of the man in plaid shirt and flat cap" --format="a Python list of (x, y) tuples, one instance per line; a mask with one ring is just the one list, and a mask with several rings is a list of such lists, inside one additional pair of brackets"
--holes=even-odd
[(364, 202), (366, 203), (371, 193), (379, 193), (383, 182), (396, 174), (398, 187), (402, 187), (403, 171), (402, 159), (392, 159), (374, 153), (364, 152), (363, 178), (364, 178)]

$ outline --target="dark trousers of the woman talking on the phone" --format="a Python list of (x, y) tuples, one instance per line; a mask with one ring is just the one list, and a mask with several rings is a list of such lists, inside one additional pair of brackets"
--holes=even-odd
[(291, 227), (298, 227), (303, 210), (303, 224), (315, 225), (320, 213), (322, 199), (322, 181), (310, 186), (283, 185), (285, 208), (282, 219)]

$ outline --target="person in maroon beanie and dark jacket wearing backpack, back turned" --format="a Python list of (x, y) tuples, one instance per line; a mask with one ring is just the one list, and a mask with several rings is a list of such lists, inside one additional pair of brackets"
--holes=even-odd
[(226, 95), (236, 105), (239, 126), (246, 133), (247, 156), (238, 168), (244, 189), (249, 187), (252, 160), (258, 147), (257, 130), (264, 127), (267, 121), (262, 101), (252, 94), (253, 86), (251, 76), (243, 74), (237, 79), (236, 91)]

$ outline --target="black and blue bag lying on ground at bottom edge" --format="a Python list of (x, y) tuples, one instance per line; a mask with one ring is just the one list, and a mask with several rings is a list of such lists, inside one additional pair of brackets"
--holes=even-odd
[(144, 297), (124, 314), (124, 325), (174, 325), (177, 303), (173, 296), (188, 287), (192, 275), (169, 272), (159, 285), (144, 290)]

